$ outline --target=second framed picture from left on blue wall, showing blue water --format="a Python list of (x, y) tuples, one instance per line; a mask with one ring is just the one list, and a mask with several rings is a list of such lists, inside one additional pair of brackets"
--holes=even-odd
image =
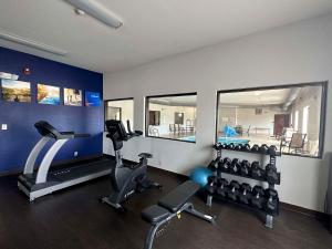
[(37, 101), (39, 104), (60, 105), (60, 87), (38, 84)]

